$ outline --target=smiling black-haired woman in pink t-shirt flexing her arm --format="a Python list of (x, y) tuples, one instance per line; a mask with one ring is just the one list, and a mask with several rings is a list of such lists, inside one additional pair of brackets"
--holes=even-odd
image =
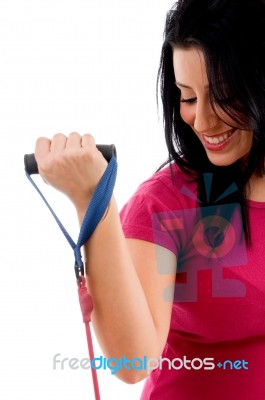
[[(153, 359), (118, 373), (153, 369), (142, 400), (265, 398), (264, 50), (263, 0), (174, 5), (159, 69), (168, 165), (120, 215), (112, 198), (85, 245), (104, 355)], [(106, 168), (93, 137), (39, 138), (35, 155), (81, 222)]]

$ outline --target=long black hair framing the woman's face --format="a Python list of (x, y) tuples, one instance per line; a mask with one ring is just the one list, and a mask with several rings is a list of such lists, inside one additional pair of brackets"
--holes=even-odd
[[(175, 85), (173, 49), (199, 48), (205, 58), (213, 109), (220, 107), (236, 127), (253, 131), (247, 162), (213, 165), (192, 128), (180, 116), (180, 90)], [(227, 188), (237, 190), (219, 204), (240, 203), (243, 231), (251, 246), (247, 190), (249, 179), (264, 175), (265, 160), (265, 2), (264, 0), (179, 0), (168, 12), (157, 96), (160, 92), (168, 160), (198, 182), (205, 203), (205, 173), (213, 174), (210, 202)]]

